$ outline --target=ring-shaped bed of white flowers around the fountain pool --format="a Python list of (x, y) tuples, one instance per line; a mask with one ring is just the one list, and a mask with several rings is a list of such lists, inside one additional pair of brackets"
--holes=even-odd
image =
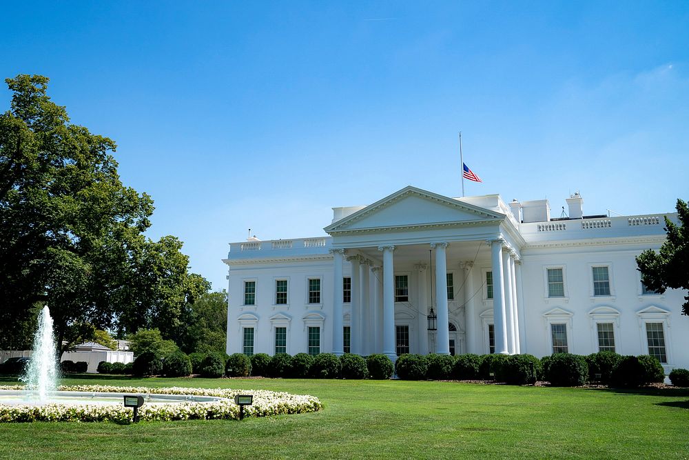
[[(23, 386), (0, 386), (0, 390), (23, 390)], [(266, 417), (277, 414), (299, 414), (315, 412), (322, 408), (318, 398), (301, 394), (272, 392), (267, 390), (230, 390), (207, 388), (148, 388), (121, 387), (101, 385), (60, 386), (60, 391), (80, 392), (114, 392), (141, 394), (192, 394), (194, 396), (223, 397), (212, 402), (180, 402), (161, 405), (144, 404), (139, 410), (140, 419), (172, 421), (195, 419), (239, 419), (239, 406), (234, 403), (235, 394), (253, 394), (252, 406), (245, 406), (245, 417)], [(43, 406), (0, 405), (0, 422), (22, 421), (114, 421), (126, 423), (132, 421), (132, 408), (125, 408), (121, 403), (92, 405), (50, 403)]]

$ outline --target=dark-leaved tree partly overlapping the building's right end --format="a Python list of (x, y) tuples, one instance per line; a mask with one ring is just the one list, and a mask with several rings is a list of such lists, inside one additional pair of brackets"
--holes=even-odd
[[(665, 217), (668, 239), (660, 251), (649, 249), (637, 257), (641, 282), (656, 292), (689, 290), (689, 205), (681, 199), (677, 200), (677, 217), (679, 226)], [(684, 299), (682, 312), (689, 315), (689, 296)]]

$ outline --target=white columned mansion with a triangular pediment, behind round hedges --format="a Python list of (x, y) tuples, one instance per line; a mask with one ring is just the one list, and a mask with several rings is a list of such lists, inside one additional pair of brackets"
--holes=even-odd
[(635, 263), (665, 240), (664, 215), (566, 201), (553, 219), (547, 200), (409, 186), (333, 208), (329, 237), (230, 243), (227, 353), (613, 350), (689, 368), (686, 292), (648, 292)]

